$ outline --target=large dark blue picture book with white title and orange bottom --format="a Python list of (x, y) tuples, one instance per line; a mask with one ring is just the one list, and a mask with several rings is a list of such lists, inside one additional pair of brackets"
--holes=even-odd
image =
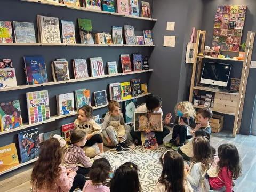
[(42, 56), (24, 56), (28, 85), (47, 83), (45, 61)]

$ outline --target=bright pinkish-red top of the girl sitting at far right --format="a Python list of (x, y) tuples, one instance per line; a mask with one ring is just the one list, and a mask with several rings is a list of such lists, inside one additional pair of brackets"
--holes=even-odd
[(210, 185), (213, 189), (218, 190), (221, 189), (223, 186), (226, 188), (226, 192), (231, 192), (232, 190), (232, 172), (228, 170), (227, 167), (223, 167), (218, 177), (211, 178), (209, 177)]

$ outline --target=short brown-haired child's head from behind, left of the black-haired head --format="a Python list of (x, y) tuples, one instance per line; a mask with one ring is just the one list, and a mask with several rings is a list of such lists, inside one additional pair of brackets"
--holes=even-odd
[(93, 183), (103, 183), (109, 178), (111, 165), (105, 158), (97, 159), (93, 162), (90, 172), (88, 174)]

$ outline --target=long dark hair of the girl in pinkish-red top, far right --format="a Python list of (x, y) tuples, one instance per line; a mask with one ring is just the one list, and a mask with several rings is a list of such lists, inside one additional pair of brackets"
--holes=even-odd
[(219, 167), (227, 167), (232, 172), (233, 179), (241, 174), (240, 157), (237, 148), (231, 144), (222, 144), (218, 148)]

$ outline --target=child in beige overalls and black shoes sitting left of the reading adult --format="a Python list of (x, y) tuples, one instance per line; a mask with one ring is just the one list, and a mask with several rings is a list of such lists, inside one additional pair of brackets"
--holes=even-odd
[(124, 117), (120, 113), (120, 104), (117, 101), (108, 103), (109, 113), (104, 117), (102, 134), (108, 141), (108, 145), (115, 145), (117, 153), (129, 150), (126, 139), (130, 133), (130, 126), (125, 125)]

